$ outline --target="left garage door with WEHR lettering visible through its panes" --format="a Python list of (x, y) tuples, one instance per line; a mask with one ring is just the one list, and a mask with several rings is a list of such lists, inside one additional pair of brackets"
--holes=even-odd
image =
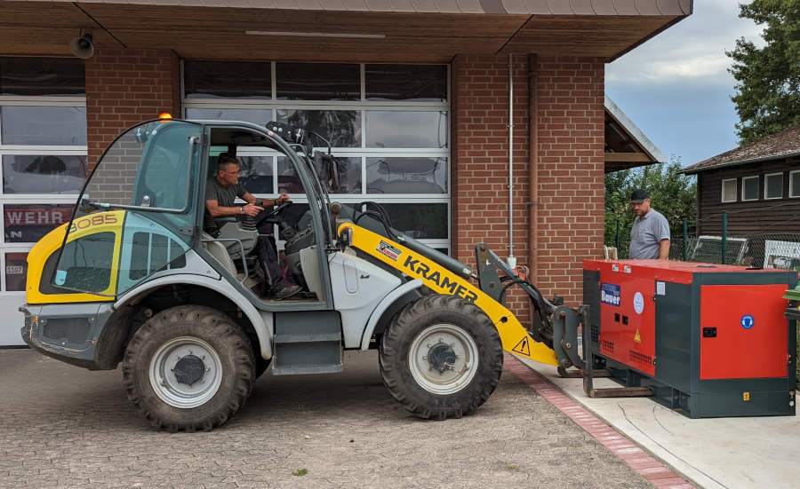
[(28, 250), (72, 217), (86, 171), (83, 61), (0, 57), (4, 295), (16, 292), (21, 304)]

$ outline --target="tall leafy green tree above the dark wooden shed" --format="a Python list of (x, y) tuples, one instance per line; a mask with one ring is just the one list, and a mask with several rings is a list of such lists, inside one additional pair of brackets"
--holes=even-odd
[(740, 37), (728, 72), (736, 80), (736, 124), (746, 145), (800, 124), (800, 0), (754, 0), (740, 18), (764, 24), (763, 48)]

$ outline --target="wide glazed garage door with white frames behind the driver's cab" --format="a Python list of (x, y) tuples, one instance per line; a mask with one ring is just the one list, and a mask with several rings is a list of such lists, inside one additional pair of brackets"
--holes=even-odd
[[(226, 77), (231, 70), (245, 75)], [(336, 159), (336, 201), (377, 201), (397, 230), (449, 252), (447, 65), (185, 61), (184, 87), (187, 119), (278, 121), (318, 133)], [(244, 146), (237, 156), (251, 193), (305, 202), (285, 158)]]

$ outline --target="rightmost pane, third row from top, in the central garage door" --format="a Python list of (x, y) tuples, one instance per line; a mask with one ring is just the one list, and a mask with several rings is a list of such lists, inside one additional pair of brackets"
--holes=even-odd
[(367, 158), (367, 193), (447, 193), (447, 159)]

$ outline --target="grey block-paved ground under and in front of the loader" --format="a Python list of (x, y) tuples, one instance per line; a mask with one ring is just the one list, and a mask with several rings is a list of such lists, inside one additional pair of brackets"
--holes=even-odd
[(508, 371), (476, 414), (428, 422), (389, 397), (374, 352), (346, 357), (339, 375), (265, 375), (218, 430), (169, 434), (118, 371), (0, 350), (0, 486), (652, 487)]

